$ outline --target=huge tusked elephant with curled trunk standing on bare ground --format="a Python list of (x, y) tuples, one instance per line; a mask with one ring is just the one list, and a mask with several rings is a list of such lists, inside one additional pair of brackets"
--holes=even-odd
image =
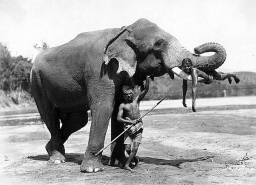
[[(123, 85), (143, 86), (147, 75), (154, 77), (181, 66), (192, 58), (195, 66), (222, 65), (225, 50), (215, 43), (203, 44), (193, 54), (171, 34), (147, 19), (122, 28), (84, 32), (61, 46), (41, 51), (31, 70), (31, 92), (40, 116), (51, 134), (46, 144), (49, 162), (65, 162), (64, 143), (92, 116), (89, 141), (80, 165), (81, 172), (104, 170), (101, 163), (105, 135), (111, 118), (111, 140), (123, 131), (117, 122)], [(179, 72), (182, 77), (182, 71)], [(60, 124), (61, 122), (61, 124)], [(111, 145), (109, 165), (125, 164), (123, 137)]]

